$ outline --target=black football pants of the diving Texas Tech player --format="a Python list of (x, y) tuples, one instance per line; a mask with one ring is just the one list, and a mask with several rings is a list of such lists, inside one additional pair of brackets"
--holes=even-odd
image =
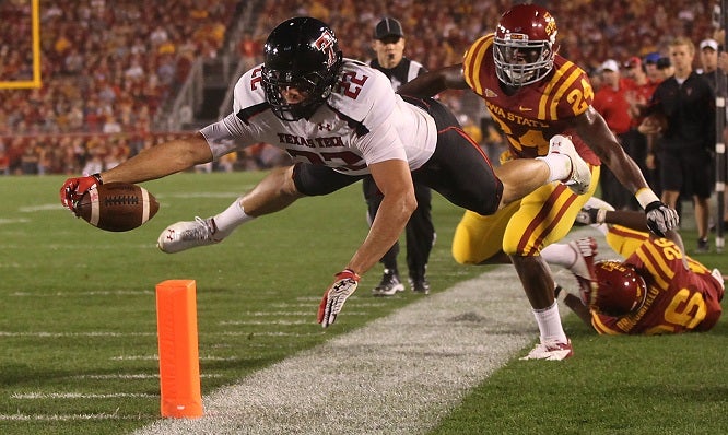
[[(439, 102), (402, 96), (426, 110), (437, 126), (437, 145), (430, 160), (412, 172), (412, 179), (439, 192), (451, 203), (480, 214), (493, 214), (501, 203), (503, 184), (483, 150), (462, 131), (455, 116)], [(344, 175), (327, 166), (298, 163), (293, 169), (296, 189), (306, 196), (328, 195), (365, 175)]]

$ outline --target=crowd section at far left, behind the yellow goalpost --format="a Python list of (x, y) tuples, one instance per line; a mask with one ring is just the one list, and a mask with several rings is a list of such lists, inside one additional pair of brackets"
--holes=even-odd
[[(40, 2), (43, 86), (0, 91), (0, 173), (78, 173), (166, 139), (151, 121), (237, 1)], [(0, 3), (0, 81), (32, 78), (31, 2)]]

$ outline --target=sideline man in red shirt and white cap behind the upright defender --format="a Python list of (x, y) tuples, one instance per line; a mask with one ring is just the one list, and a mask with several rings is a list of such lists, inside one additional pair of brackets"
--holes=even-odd
[[(620, 75), (620, 67), (617, 60), (609, 59), (601, 64), (601, 80), (602, 86), (594, 96), (594, 108), (601, 114), (609, 129), (617, 136), (624, 150), (629, 152), (630, 146), (625, 145), (625, 142), (631, 139), (630, 127), (632, 126), (630, 104), (627, 103), (630, 85)], [(611, 203), (618, 210), (632, 208), (632, 195), (604, 165), (601, 168), (599, 183), (604, 201)]]

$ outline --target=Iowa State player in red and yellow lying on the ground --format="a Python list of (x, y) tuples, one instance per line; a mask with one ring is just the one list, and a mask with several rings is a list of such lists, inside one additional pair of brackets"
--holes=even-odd
[[(680, 235), (647, 232), (639, 212), (613, 211), (590, 200), (580, 214), (597, 224), (624, 260), (595, 261), (597, 242), (585, 237), (554, 244), (541, 254), (577, 278), (579, 296), (557, 287), (556, 295), (601, 334), (659, 334), (707, 331), (723, 309), (723, 275), (684, 254)], [(611, 209), (611, 210), (610, 210)]]

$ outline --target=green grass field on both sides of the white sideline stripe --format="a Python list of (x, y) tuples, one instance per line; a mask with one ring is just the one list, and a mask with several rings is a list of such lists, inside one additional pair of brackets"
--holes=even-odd
[[(263, 175), (146, 183), (161, 210), (121, 234), (63, 210), (61, 177), (0, 177), (0, 433), (122, 434), (158, 419), (154, 286), (164, 280), (197, 281), (203, 395), (418, 299), (372, 298), (377, 269), (354, 296), (376, 301), (363, 315), (326, 331), (316, 324), (318, 298), (366, 234), (359, 185), (298, 201), (215, 247), (172, 256), (154, 247), (171, 222), (222, 210)], [(461, 212), (439, 197), (433, 209), (436, 293), (486, 269), (454, 262)], [(692, 247), (694, 233), (684, 237)], [(696, 258), (728, 271), (725, 254)], [(728, 432), (725, 319), (709, 333), (654, 338), (597, 337), (573, 315), (564, 324), (574, 358), (515, 355), (432, 433)]]

